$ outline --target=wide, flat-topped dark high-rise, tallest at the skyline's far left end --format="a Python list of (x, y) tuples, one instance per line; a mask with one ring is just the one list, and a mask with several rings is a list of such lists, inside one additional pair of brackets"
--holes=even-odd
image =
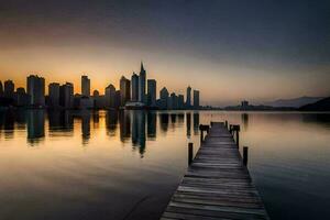
[(30, 75), (26, 80), (31, 106), (45, 106), (45, 79), (37, 75)]

